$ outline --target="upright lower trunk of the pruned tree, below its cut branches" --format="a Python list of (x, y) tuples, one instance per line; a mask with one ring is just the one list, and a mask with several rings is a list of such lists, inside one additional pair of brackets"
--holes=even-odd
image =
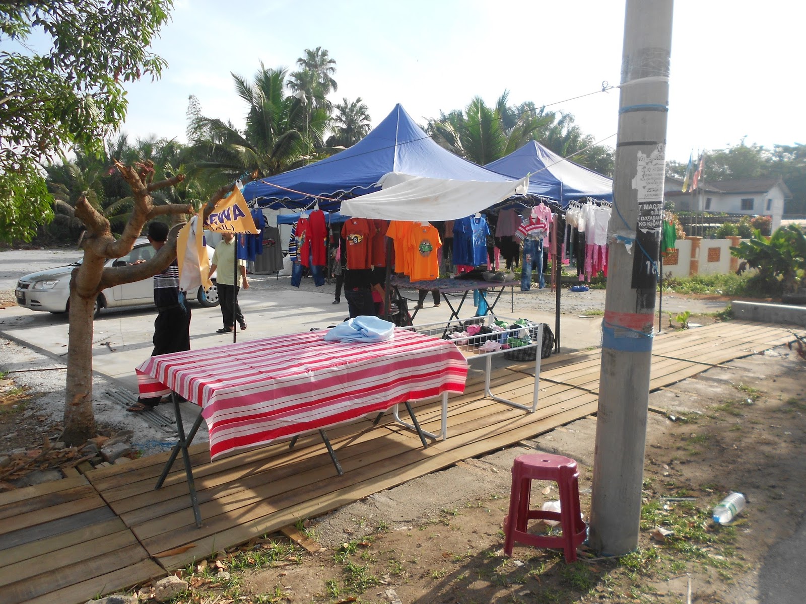
[(70, 279), (70, 330), (67, 347), (67, 389), (64, 405), (64, 433), (67, 445), (82, 445), (95, 436), (93, 415), (93, 314), (95, 298), (78, 295)]

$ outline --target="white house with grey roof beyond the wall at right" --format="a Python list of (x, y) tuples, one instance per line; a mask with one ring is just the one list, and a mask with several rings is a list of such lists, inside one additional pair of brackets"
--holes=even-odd
[(703, 182), (694, 192), (680, 189), (683, 180), (667, 176), (663, 197), (679, 211), (726, 212), (771, 216), (772, 230), (781, 225), (783, 202), (792, 194), (780, 178), (744, 178)]

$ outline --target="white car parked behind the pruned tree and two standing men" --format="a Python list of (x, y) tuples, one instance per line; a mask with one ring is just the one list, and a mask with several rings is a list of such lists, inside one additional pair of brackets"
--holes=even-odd
[[(210, 259), (214, 250), (207, 246)], [(156, 254), (156, 250), (145, 238), (135, 241), (131, 252), (117, 259), (108, 259), (105, 267), (123, 267), (138, 260), (148, 260)], [(50, 268), (47, 271), (37, 271), (21, 277), (17, 282), (15, 297), (17, 304), (31, 310), (44, 310), (48, 312), (69, 311), (70, 275), (81, 261), (69, 264), (66, 267)], [(197, 292), (189, 292), (189, 300), (198, 300), (204, 307), (218, 306), (218, 288), (215, 282), (210, 289), (198, 288)], [(122, 283), (113, 288), (107, 288), (98, 294), (95, 300), (95, 316), (102, 308), (118, 308), (122, 306), (143, 306), (154, 304), (153, 278), (142, 279), (135, 283)]]

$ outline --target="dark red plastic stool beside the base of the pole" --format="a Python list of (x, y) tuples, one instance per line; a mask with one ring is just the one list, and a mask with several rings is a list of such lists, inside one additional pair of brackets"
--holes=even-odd
[[(580, 515), (580, 473), (576, 461), (562, 455), (530, 453), (515, 457), (512, 466), (512, 490), (509, 514), (504, 519), (504, 553), (512, 556), (515, 542), (538, 548), (562, 548), (565, 561), (576, 560), (576, 547), (587, 535)], [(529, 498), (533, 480), (552, 480), (559, 487), (560, 511), (530, 510)], [(532, 519), (559, 520), (561, 536), (531, 535), (526, 524)]]

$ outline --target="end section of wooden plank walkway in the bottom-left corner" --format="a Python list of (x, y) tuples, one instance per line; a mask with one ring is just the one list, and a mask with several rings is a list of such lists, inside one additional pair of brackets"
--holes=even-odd
[(0, 602), (86, 602), (164, 570), (84, 476), (0, 494)]

